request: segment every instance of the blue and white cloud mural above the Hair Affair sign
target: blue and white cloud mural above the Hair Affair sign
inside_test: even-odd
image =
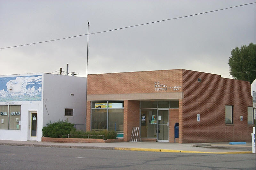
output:
[[[42,75],[0,78],[0,101],[42,100]]]

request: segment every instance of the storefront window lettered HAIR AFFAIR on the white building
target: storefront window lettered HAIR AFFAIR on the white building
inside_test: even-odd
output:
[[[0,121],[0,129],[20,130],[20,105],[0,106]]]

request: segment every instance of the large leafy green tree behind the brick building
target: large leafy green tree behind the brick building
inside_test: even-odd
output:
[[[255,79],[255,44],[243,45],[232,49],[228,59],[230,75],[236,80],[249,81]]]

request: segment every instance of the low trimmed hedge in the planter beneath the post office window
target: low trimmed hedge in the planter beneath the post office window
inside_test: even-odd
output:
[[[81,131],[81,130],[71,130],[70,135],[105,135],[105,140],[116,139],[117,133],[114,130],[101,130],[101,131]],[[67,137],[67,136],[63,136]],[[87,136],[69,136],[69,138],[88,138]],[[93,139],[103,139],[103,136],[89,136]]]

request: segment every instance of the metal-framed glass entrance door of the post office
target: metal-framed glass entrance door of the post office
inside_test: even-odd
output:
[[[169,110],[158,110],[158,141],[169,142]]]

